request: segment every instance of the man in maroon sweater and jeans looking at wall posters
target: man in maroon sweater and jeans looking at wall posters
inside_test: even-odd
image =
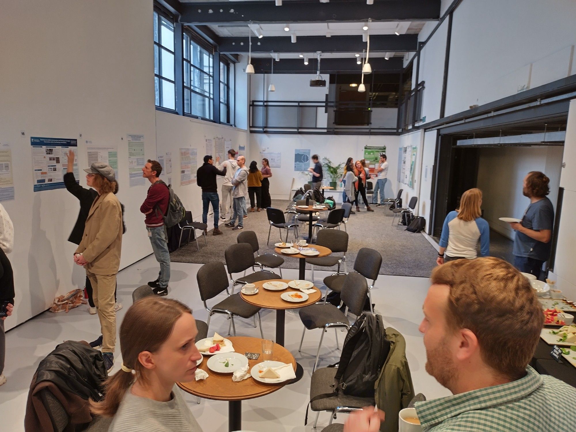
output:
[[[142,177],[150,180],[148,195],[140,206],[140,211],[146,215],[145,223],[148,237],[152,244],[154,256],[160,263],[160,272],[156,281],[148,282],[154,294],[168,294],[168,281],[170,280],[170,253],[168,252],[168,234],[164,226],[164,215],[168,210],[169,190],[164,181],[158,177],[162,172],[162,165],[150,159],[142,168]]]

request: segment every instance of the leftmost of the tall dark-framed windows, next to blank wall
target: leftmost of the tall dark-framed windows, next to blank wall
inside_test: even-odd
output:
[[[154,11],[154,90],[156,105],[176,108],[174,24]]]

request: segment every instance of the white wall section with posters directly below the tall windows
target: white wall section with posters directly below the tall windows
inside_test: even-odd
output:
[[[203,164],[206,154],[206,138],[222,137],[232,140],[232,148],[238,150],[239,145],[247,145],[247,132],[237,128],[222,126],[202,120],[190,119],[176,114],[156,112],[156,142],[157,153],[163,155],[172,153],[172,174],[162,173],[164,181],[170,179],[172,188],[182,200],[186,210],[192,211],[196,222],[202,221],[202,190],[196,183],[180,185],[180,149],[196,149],[197,164],[192,170],[196,172]],[[215,162],[215,155],[214,162]],[[228,158],[226,156],[226,158]],[[222,161],[221,161],[222,162]],[[217,176],[218,190],[223,177]],[[230,202],[230,201],[229,201]],[[212,207],[210,207],[211,211]],[[209,217],[208,226],[212,226]]]

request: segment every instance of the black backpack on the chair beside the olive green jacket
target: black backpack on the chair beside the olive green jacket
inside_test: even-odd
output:
[[[338,366],[334,384],[330,385],[334,392],[314,396],[310,402],[339,395],[374,397],[374,384],[389,352],[390,342],[386,339],[382,316],[362,313],[348,330],[340,361],[328,366]]]

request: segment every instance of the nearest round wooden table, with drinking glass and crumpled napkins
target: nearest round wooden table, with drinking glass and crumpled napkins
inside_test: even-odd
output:
[[[245,336],[232,336],[227,338],[232,342],[236,353],[262,353],[262,339],[247,338]],[[281,382],[279,384],[263,384],[253,378],[244,381],[232,381],[232,374],[219,374],[212,372],[207,362],[210,356],[204,355],[204,359],[199,369],[205,370],[208,374],[206,380],[177,382],[176,384],[185,392],[195,396],[204,397],[204,399],[227,400],[228,401],[228,430],[235,431],[242,429],[242,400],[253,399],[267,395],[281,389],[291,381]],[[291,363],[296,367],[294,356],[285,347],[275,343],[274,355],[272,360]],[[248,371],[252,366],[262,362],[262,359],[248,359]]]

